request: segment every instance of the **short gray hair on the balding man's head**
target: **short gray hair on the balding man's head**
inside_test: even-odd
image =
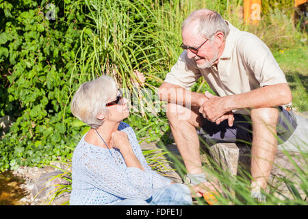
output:
[[[192,12],[182,23],[182,31],[185,27],[190,25],[193,21],[197,22],[197,31],[203,38],[209,38],[212,34],[217,31],[224,33],[224,39],[229,34],[229,26],[224,21],[222,16],[217,12],[209,9],[201,9]]]

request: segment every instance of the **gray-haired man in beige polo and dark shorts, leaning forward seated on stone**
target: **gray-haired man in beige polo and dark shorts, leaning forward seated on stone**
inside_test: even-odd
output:
[[[214,11],[192,12],[183,21],[182,39],[184,51],[158,93],[168,101],[167,116],[186,177],[196,196],[205,192],[200,183],[214,189],[202,170],[198,135],[252,142],[251,194],[264,201],[260,191],[266,189],[277,144],[297,125],[285,75],[264,42]],[[190,92],[202,76],[216,95]]]

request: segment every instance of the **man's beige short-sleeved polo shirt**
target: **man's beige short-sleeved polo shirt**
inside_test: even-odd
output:
[[[165,82],[190,89],[203,76],[218,96],[242,94],[263,86],[287,83],[266,44],[254,34],[240,31],[227,23],[230,32],[217,68],[198,68],[196,62],[188,58],[187,51],[183,51],[166,75]],[[248,114],[246,110],[233,112]]]

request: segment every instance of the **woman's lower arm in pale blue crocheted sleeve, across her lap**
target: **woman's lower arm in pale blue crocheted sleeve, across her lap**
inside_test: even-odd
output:
[[[109,153],[82,157],[82,177],[95,188],[121,198],[147,199],[153,194],[153,177],[140,168],[120,168]]]

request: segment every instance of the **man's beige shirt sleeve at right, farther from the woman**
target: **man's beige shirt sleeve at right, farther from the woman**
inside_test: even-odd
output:
[[[287,83],[285,74],[274,59],[270,49],[257,36],[247,33],[238,43],[242,60],[245,60],[253,71],[260,87]]]

